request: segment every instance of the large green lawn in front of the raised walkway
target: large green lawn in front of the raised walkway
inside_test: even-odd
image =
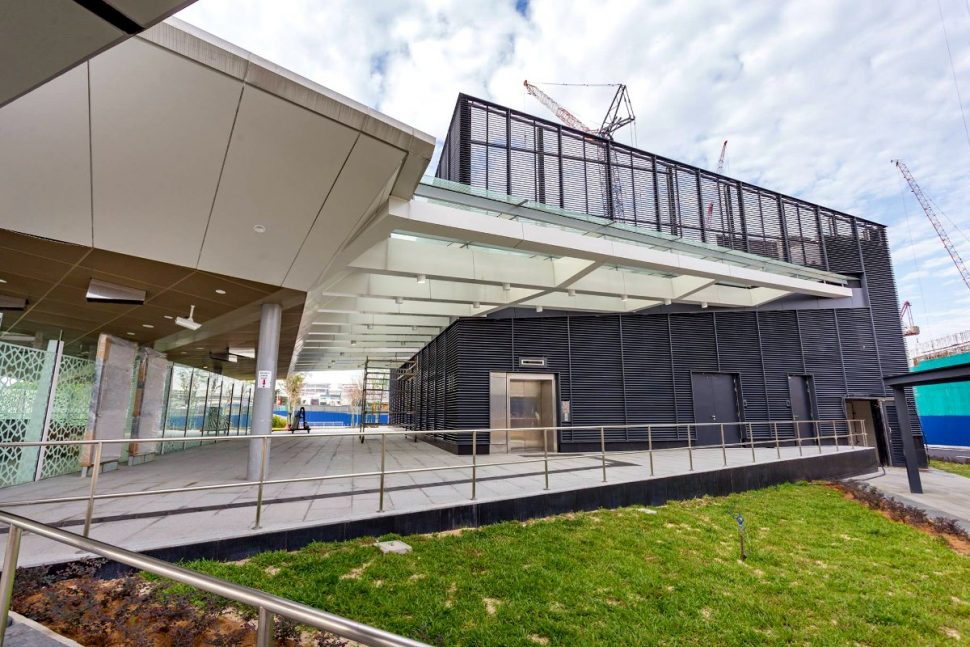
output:
[[[440,645],[970,639],[970,558],[822,485],[404,539],[189,566]]]

